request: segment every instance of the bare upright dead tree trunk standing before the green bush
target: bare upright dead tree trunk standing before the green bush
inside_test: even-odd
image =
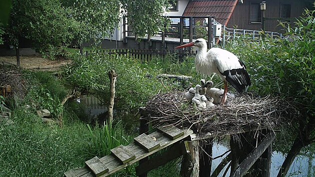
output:
[[[111,123],[113,116],[112,116],[112,111],[113,111],[113,105],[114,105],[114,98],[115,98],[115,83],[117,80],[117,74],[116,72],[111,69],[108,72],[109,80],[110,80],[110,97],[109,97],[109,104],[108,104],[108,117],[107,117],[107,123]]]

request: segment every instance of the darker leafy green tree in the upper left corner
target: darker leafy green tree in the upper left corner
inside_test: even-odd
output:
[[[18,46],[18,37],[34,41],[41,51],[66,46],[80,31],[80,23],[71,18],[73,10],[59,0],[13,0],[6,32],[10,44]]]

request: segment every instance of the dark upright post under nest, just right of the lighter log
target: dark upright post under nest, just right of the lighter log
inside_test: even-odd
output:
[[[199,176],[200,177],[208,177],[211,174],[211,165],[212,165],[212,145],[213,139],[203,139],[200,141],[200,159],[199,159]]]

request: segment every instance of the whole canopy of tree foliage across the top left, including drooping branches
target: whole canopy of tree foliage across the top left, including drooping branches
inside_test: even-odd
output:
[[[161,15],[167,0],[13,0],[9,26],[10,44],[19,36],[34,41],[42,51],[110,36],[127,12],[138,36],[153,35],[164,26]],[[1,35],[1,28],[0,28]],[[1,40],[0,40],[1,42]]]

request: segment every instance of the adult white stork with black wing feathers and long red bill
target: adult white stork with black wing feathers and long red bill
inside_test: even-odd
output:
[[[215,72],[224,81],[224,92],[221,99],[222,104],[224,104],[226,100],[227,82],[239,93],[247,90],[250,85],[250,78],[246,67],[233,53],[217,47],[212,47],[207,51],[206,41],[203,38],[198,38],[193,42],[179,45],[175,48],[188,46],[198,47],[194,61],[197,72],[205,76],[210,76]]]

